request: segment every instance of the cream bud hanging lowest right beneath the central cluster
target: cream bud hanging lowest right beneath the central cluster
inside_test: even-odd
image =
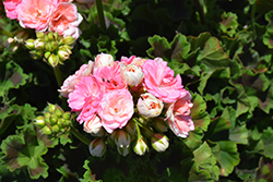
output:
[[[167,136],[161,133],[154,134],[151,137],[151,142],[152,142],[153,148],[158,153],[165,151],[169,146]]]

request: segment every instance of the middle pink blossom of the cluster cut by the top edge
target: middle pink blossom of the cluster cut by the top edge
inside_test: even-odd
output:
[[[58,0],[23,0],[17,7],[17,20],[24,28],[45,32]]]

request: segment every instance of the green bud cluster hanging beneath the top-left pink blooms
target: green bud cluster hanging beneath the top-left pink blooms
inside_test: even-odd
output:
[[[29,49],[33,59],[44,59],[52,68],[62,64],[72,53],[71,45],[74,38],[59,36],[58,33],[36,33],[36,39],[27,39],[25,47]]]

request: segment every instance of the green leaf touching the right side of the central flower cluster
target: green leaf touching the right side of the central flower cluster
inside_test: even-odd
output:
[[[191,108],[191,118],[194,123],[194,126],[206,131],[211,119],[207,112],[205,111],[206,104],[204,99],[200,95],[193,94],[191,101],[193,104],[193,107]]]

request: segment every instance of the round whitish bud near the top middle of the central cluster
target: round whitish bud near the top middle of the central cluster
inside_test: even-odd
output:
[[[144,73],[140,66],[129,64],[122,69],[122,76],[129,86],[138,86],[140,83],[142,83]]]

